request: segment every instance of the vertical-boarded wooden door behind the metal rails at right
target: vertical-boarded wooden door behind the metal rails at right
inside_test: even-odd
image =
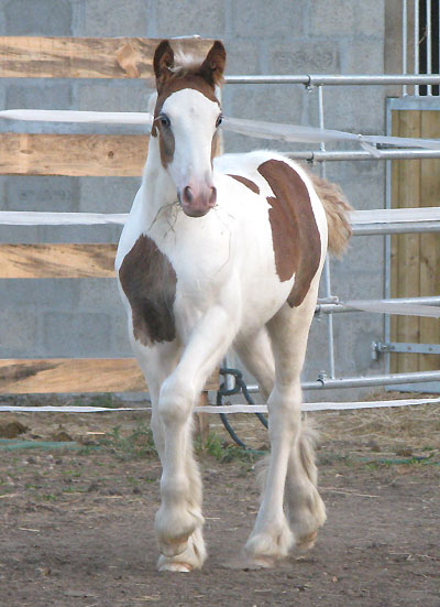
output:
[[[440,111],[394,110],[393,134],[439,138]],[[392,194],[394,208],[437,207],[440,193],[440,159],[394,161]],[[422,297],[440,293],[440,237],[438,232],[403,234],[392,237],[392,297]],[[392,316],[392,342],[440,344],[437,318]],[[431,371],[440,368],[440,356],[392,354],[392,372]]]

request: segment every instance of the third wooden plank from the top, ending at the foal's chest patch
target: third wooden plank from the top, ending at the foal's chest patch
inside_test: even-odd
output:
[[[113,278],[116,245],[0,245],[0,279]]]

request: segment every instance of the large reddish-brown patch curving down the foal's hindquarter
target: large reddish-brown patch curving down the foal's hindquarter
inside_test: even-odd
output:
[[[321,238],[310,196],[302,178],[286,162],[268,160],[258,166],[258,173],[275,195],[268,196],[267,202],[276,273],[282,282],[295,274],[287,303],[290,307],[298,306],[321,260]]]

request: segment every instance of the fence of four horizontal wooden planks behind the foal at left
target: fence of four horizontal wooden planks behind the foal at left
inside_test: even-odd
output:
[[[153,85],[158,41],[140,37],[0,36],[0,77],[144,78]],[[206,53],[212,41],[179,40]],[[148,138],[0,133],[1,175],[140,176]],[[0,245],[2,279],[113,277],[116,246]],[[212,378],[207,389],[215,389]],[[0,392],[131,392],[146,386],[134,359],[0,359]]]

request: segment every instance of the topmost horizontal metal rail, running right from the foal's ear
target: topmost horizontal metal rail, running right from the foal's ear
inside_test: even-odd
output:
[[[304,75],[274,75],[274,76],[226,76],[229,85],[305,85],[305,86],[348,86],[348,85],[440,85],[439,75],[420,74],[380,74],[380,75],[331,75],[331,74],[304,74]]]

